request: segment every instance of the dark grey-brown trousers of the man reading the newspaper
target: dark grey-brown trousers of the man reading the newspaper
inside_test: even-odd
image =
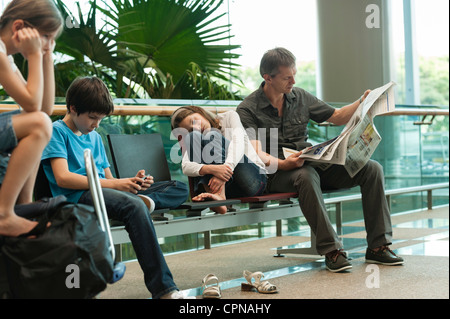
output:
[[[325,171],[305,162],[301,168],[278,171],[269,177],[270,192],[297,192],[300,208],[316,235],[317,252],[325,255],[342,248],[325,207],[322,189],[360,186],[367,244],[373,249],[391,244],[390,210],[384,193],[383,167],[370,160],[353,178],[343,165]]]

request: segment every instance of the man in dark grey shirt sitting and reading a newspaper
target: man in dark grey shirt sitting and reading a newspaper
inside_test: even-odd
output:
[[[264,54],[260,73],[264,82],[242,101],[237,112],[258,155],[271,173],[268,191],[298,193],[300,208],[316,235],[318,253],[325,255],[328,270],[338,272],[352,266],[328,218],[322,189],[360,186],[368,243],[366,261],[402,264],[403,259],[388,248],[392,241],[392,225],[381,165],[367,160],[352,177],[344,165],[333,164],[323,170],[319,167],[322,163],[300,157],[301,151],[311,146],[307,142],[310,119],[336,125],[353,121],[350,125],[356,125],[363,112],[358,116],[354,114],[370,91],[364,92],[356,102],[335,109],[305,90],[294,87],[295,57],[284,48],[275,48]],[[366,135],[370,132],[369,128]],[[336,140],[339,137],[328,142],[333,144]],[[346,140],[348,142],[349,138]],[[275,151],[273,145],[276,145]],[[297,152],[285,157],[283,148]]]

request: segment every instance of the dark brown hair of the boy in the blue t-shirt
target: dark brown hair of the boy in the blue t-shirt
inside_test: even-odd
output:
[[[66,107],[73,106],[78,115],[98,113],[109,115],[114,112],[114,103],[108,88],[95,76],[76,78],[66,93]]]

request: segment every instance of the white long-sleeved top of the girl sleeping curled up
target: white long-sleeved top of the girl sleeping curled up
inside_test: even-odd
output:
[[[247,132],[242,126],[241,120],[236,111],[221,113],[218,115],[218,119],[220,122],[222,135],[230,141],[224,164],[230,166],[230,168],[234,171],[243,156],[247,155],[247,157],[260,168],[260,172],[267,173],[266,166],[259,158],[253,148],[253,145],[250,143]],[[200,176],[200,169],[203,165],[205,164],[190,161],[188,152],[184,152],[181,168],[185,175],[191,177]]]

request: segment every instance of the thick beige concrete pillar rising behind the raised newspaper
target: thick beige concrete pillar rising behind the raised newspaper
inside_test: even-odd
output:
[[[389,0],[317,0],[318,96],[353,102],[391,80]]]

